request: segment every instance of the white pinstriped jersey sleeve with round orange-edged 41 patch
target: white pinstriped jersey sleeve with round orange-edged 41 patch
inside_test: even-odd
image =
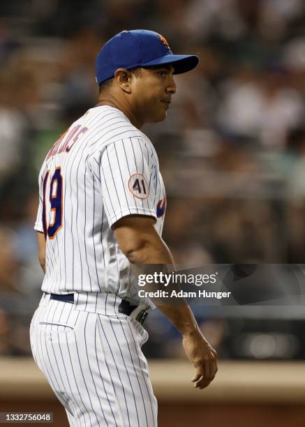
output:
[[[156,164],[142,140],[107,145],[101,156],[101,187],[110,227],[131,214],[156,219]]]

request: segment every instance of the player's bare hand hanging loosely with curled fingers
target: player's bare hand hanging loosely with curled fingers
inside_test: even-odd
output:
[[[200,331],[184,335],[182,340],[186,356],[195,366],[196,373],[192,382],[198,389],[204,389],[214,379],[217,368],[217,354]]]

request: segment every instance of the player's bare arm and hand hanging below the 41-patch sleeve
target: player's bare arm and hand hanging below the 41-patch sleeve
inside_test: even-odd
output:
[[[156,232],[152,218],[123,218],[114,227],[114,233],[136,274],[139,274],[139,268],[149,268],[149,264],[154,267],[166,264],[168,269],[174,270],[170,250]],[[141,274],[145,272],[140,271]],[[202,336],[191,308],[184,300],[177,301],[177,305],[165,304],[160,299],[151,300],[181,333],[184,351],[196,369],[192,380],[195,387],[207,387],[217,372],[216,352]]]

